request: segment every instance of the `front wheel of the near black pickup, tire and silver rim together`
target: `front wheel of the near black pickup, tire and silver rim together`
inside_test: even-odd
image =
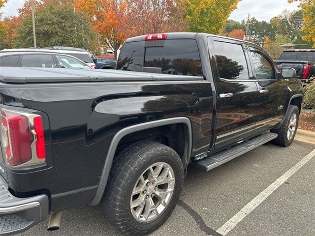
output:
[[[290,105],[284,118],[284,122],[282,123],[280,128],[276,130],[271,130],[271,132],[278,134],[278,137],[272,142],[283,147],[290,146],[294,140],[298,127],[298,122],[299,109],[295,105]]]

